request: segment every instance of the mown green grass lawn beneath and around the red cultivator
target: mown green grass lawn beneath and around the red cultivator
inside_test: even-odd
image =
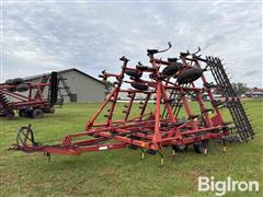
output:
[[[81,131],[99,104],[65,105],[43,119],[1,119],[1,196],[214,196],[214,193],[197,193],[201,175],[259,181],[260,193],[228,193],[228,196],[263,196],[262,100],[248,101],[245,106],[256,132],[254,140],[228,144],[227,153],[213,142],[206,157],[191,148],[171,159],[171,149],[167,148],[163,167],[159,157],[146,155],[141,161],[139,150],[53,155],[50,163],[42,153],[7,150],[15,141],[18,128],[27,124],[33,125],[36,141],[42,142],[60,141],[65,135]],[[121,112],[119,107],[115,115]]]

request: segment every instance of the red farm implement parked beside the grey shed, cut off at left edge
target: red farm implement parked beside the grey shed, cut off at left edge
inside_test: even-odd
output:
[[[49,81],[49,83],[48,83]],[[48,89],[48,95],[44,95]],[[53,114],[57,97],[57,73],[44,76],[39,83],[27,83],[21,78],[7,80],[0,84],[0,115],[14,117],[18,111],[22,117],[41,118],[44,113]]]

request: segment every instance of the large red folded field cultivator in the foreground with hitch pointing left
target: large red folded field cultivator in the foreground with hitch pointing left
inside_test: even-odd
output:
[[[132,148],[162,158],[163,147],[172,147],[174,153],[192,144],[195,152],[206,153],[210,139],[225,144],[232,139],[253,138],[252,127],[220,60],[214,57],[203,59],[197,56],[199,49],[167,60],[155,57],[170,48],[169,44],[164,50],[148,49],[149,66],[139,62],[130,67],[129,60],[122,57],[121,73],[103,71],[100,77],[104,80],[116,79],[115,88],[87,123],[84,131],[66,136],[60,144],[43,146],[34,141],[30,126],[22,127],[13,148],[25,152],[41,151],[47,155],[79,155],[87,151]],[[214,83],[207,82],[206,73],[211,73]],[[220,90],[224,101],[214,99],[214,89]],[[119,104],[124,94],[128,101]],[[142,97],[139,104],[136,103],[138,95]],[[208,95],[209,105],[204,102],[204,95]],[[194,97],[198,113],[192,109],[190,96]],[[122,118],[115,117],[116,107],[124,107]],[[220,107],[229,109],[231,123],[225,121]],[[104,115],[103,124],[98,123],[101,115]]]

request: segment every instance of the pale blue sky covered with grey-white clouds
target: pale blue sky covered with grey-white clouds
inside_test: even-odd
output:
[[[76,67],[118,71],[147,63],[146,49],[202,48],[224,58],[232,81],[262,86],[261,1],[3,1],[1,81]]]

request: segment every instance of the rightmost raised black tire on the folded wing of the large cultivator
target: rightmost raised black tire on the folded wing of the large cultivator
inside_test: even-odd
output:
[[[195,80],[199,79],[202,74],[203,74],[203,70],[199,68],[192,68],[188,70],[184,70],[178,76],[178,83],[179,84],[192,83]]]

